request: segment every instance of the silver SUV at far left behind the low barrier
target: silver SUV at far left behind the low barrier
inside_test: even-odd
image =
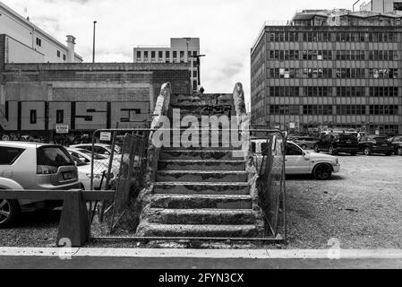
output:
[[[69,190],[80,188],[77,167],[63,146],[0,142],[0,189]],[[53,209],[59,201],[0,199],[0,228],[10,226],[18,213]]]

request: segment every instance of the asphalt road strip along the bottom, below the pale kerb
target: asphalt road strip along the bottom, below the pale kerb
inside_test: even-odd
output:
[[[0,257],[0,269],[402,269],[401,259]]]

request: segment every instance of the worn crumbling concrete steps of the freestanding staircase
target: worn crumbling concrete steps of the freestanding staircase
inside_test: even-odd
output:
[[[235,116],[232,95],[177,96],[182,117]],[[201,133],[200,133],[201,136]],[[234,148],[162,148],[149,204],[137,234],[143,237],[258,238],[259,208],[253,208],[249,174]]]

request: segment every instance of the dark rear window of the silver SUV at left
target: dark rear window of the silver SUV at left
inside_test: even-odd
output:
[[[42,146],[37,150],[37,164],[59,168],[75,165],[70,154],[57,146]]]

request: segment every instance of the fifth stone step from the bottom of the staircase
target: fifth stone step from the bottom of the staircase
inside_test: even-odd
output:
[[[236,170],[158,170],[157,181],[247,182],[248,174]]]

